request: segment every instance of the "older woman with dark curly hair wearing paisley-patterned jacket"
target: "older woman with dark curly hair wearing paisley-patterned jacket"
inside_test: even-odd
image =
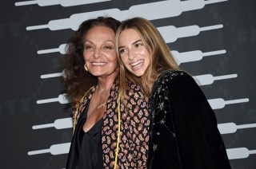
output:
[[[128,81],[126,102],[120,100],[114,50],[119,24],[90,19],[68,41],[64,83],[73,98],[74,136],[66,169],[146,167],[150,120],[144,96]]]

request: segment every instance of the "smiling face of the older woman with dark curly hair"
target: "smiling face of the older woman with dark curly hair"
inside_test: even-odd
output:
[[[95,77],[107,77],[117,71],[114,37],[114,31],[106,26],[95,26],[86,33],[83,57]]]

